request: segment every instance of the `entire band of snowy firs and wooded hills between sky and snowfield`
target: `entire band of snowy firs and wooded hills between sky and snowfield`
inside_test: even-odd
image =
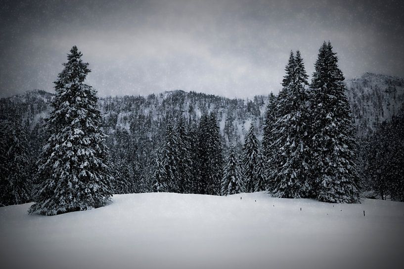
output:
[[[137,192],[404,201],[404,80],[344,81],[330,43],[312,81],[292,51],[280,93],[252,100],[181,90],[98,99],[81,57],[73,47],[56,94],[0,100],[1,205],[34,200],[32,212],[54,215]]]

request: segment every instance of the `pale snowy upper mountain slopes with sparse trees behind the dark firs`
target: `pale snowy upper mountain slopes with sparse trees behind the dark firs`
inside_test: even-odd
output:
[[[347,97],[350,101],[359,137],[371,134],[383,120],[397,115],[404,103],[404,80],[398,77],[365,73],[348,79]],[[1,109],[14,104],[33,128],[50,111],[53,94],[34,90],[1,99]],[[184,116],[189,122],[198,122],[203,113],[217,113],[224,143],[240,146],[250,122],[256,123],[261,139],[268,97],[252,100],[229,99],[181,90],[143,96],[103,97],[99,100],[103,125],[114,137],[117,129],[126,129],[140,139],[160,140],[167,121]],[[136,139],[137,139],[136,138]]]

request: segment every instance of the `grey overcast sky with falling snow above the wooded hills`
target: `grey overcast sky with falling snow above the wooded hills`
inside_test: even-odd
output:
[[[0,96],[53,91],[72,45],[99,95],[280,89],[290,50],[309,75],[330,40],[345,77],[404,77],[404,1],[1,1]]]

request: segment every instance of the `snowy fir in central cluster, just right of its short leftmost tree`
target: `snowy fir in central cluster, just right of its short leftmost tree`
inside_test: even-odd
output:
[[[165,184],[167,185],[167,192],[180,192],[178,168],[181,160],[177,138],[173,124],[169,122],[166,128],[166,138],[162,147],[161,159],[166,171]]]

